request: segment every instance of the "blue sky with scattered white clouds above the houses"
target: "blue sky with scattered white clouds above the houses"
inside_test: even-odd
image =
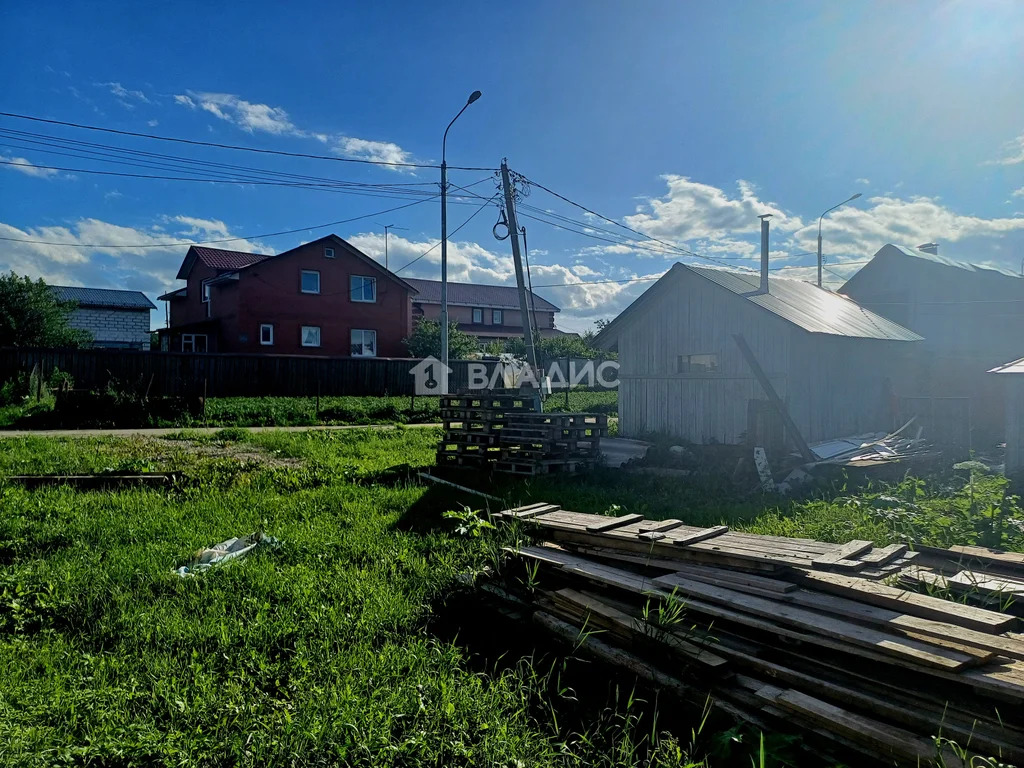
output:
[[[211,6],[216,6],[212,7]],[[24,2],[0,10],[0,111],[120,130],[349,159],[513,170],[632,228],[809,278],[818,215],[833,287],[887,242],[1016,270],[1024,259],[1024,3]],[[68,157],[52,137],[245,165],[261,172],[436,193],[434,169],[395,169],[168,144],[0,118],[0,269],[53,283],[176,287],[180,240],[280,252],[335,231],[396,268],[436,243],[436,200],[328,229],[407,197],[90,174],[181,171]],[[46,145],[32,143],[46,134]],[[49,152],[46,152],[49,151]],[[100,150],[110,152],[110,150]],[[122,161],[124,157],[120,158]],[[48,170],[59,166],[78,171]],[[487,172],[453,171],[474,194]],[[430,186],[434,184],[434,186]],[[395,188],[395,187],[392,187]],[[389,195],[391,193],[388,193]],[[425,195],[408,200],[424,200]],[[613,316],[693,257],[531,187],[522,213],[538,293],[559,326]],[[450,230],[482,200],[453,201]],[[547,212],[547,213],[545,213]],[[489,205],[452,238],[453,280],[511,283]],[[565,223],[564,220],[558,220]],[[599,227],[599,228],[598,228]],[[609,237],[601,229],[615,231]],[[608,243],[598,238],[608,238]],[[844,262],[849,262],[844,266]],[[707,262],[703,262],[707,263]],[[435,249],[407,268],[439,276]],[[154,313],[160,325],[163,311]]]

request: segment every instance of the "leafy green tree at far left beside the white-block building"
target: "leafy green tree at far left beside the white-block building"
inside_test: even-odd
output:
[[[80,347],[88,331],[71,327],[74,301],[61,301],[42,280],[0,274],[0,347]]]

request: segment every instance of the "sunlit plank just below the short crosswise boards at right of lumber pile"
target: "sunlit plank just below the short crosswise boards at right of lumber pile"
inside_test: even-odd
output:
[[[919,595],[898,587],[889,587],[842,573],[808,570],[800,573],[797,579],[798,583],[813,586],[823,592],[843,595],[922,618],[934,618],[959,627],[969,627],[980,632],[997,634],[1017,626],[1017,618],[1005,613],[954,603],[930,595]]]

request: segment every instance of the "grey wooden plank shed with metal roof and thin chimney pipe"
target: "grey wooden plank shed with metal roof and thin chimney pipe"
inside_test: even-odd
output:
[[[918,334],[809,283],[675,264],[596,338],[618,352],[620,432],[743,442],[766,395],[736,334],[808,441],[897,426]]]

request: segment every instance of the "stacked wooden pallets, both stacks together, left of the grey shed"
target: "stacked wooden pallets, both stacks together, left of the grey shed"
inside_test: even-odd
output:
[[[542,414],[534,392],[490,390],[441,397],[437,465],[535,475],[589,469],[600,460],[602,414]]]

